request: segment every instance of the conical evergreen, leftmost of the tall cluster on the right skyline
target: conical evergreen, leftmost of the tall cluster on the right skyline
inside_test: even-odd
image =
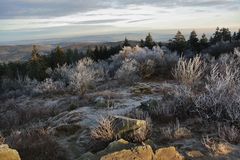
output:
[[[173,40],[174,49],[178,54],[183,54],[183,51],[186,49],[187,43],[183,34],[178,31]]]

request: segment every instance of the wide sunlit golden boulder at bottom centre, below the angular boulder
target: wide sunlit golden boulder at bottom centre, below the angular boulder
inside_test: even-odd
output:
[[[101,157],[100,160],[152,160],[154,153],[151,146],[138,146],[133,149],[124,149]]]

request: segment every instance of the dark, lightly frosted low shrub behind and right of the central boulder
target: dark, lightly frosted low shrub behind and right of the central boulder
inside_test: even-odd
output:
[[[161,100],[149,100],[142,103],[141,109],[153,117],[164,119],[178,117],[180,119],[192,116],[194,94],[187,86],[174,85],[171,93],[166,93]]]

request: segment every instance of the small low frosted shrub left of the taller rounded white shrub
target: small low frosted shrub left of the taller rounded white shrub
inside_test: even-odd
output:
[[[53,81],[50,78],[39,83],[34,91],[36,93],[59,93],[64,91],[65,84],[62,81]]]

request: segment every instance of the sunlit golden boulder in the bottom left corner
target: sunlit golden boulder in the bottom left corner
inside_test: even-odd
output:
[[[18,152],[6,144],[0,145],[0,160],[21,160]]]

